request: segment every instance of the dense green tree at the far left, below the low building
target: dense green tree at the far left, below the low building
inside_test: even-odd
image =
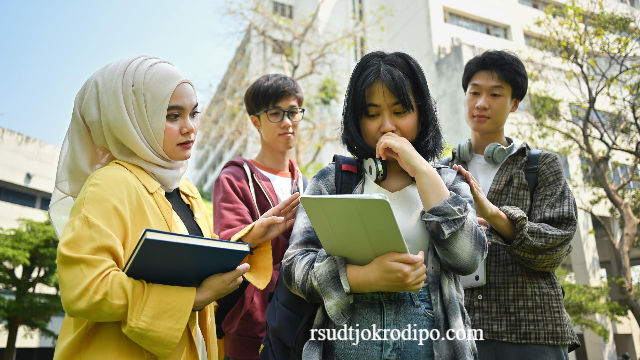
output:
[[[0,321],[9,332],[4,359],[13,360],[18,328],[57,338],[47,328],[51,316],[62,311],[56,252],[58,237],[49,220],[20,220],[16,229],[0,228]],[[51,293],[39,292],[41,288]],[[49,291],[47,291],[49,292]]]

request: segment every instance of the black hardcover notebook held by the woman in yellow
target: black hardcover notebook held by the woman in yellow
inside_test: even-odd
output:
[[[213,274],[234,270],[249,244],[146,229],[124,273],[148,283],[197,287]]]

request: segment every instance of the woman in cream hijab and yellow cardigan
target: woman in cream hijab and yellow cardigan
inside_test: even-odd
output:
[[[182,73],[150,57],[105,66],[76,96],[49,210],[66,311],[55,359],[216,359],[212,302],[242,276],[268,284],[268,240],[293,225],[297,194],[234,236],[253,249],[247,264],[198,288],[122,272],[146,228],[216,238],[198,191],[182,179],[197,108]]]

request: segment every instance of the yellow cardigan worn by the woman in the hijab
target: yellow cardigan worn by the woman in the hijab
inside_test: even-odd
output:
[[[179,190],[203,235],[217,238],[196,188],[182,179]],[[113,161],[95,171],[73,205],[58,246],[66,316],[54,359],[195,360],[196,322],[209,360],[218,357],[213,305],[192,311],[195,288],[148,284],[122,272],[146,228],[186,233],[160,184],[143,169]],[[251,265],[245,278],[264,289],[271,280],[270,242],[245,262]]]

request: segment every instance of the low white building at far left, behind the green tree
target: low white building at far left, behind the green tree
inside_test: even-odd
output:
[[[54,188],[60,147],[0,128],[0,227],[19,226],[18,219],[44,221]],[[47,291],[47,289],[37,289]],[[2,296],[10,297],[11,293]],[[62,314],[53,316],[48,327],[60,332]],[[0,331],[0,349],[8,333]],[[51,359],[54,342],[36,333],[18,330],[16,359]]]

